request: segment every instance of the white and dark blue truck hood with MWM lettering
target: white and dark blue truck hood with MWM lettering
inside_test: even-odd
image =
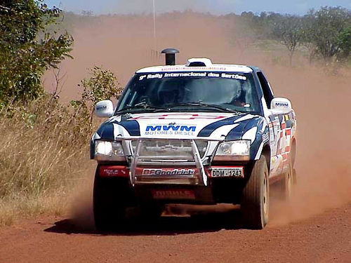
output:
[[[231,113],[147,113],[112,116],[102,123],[93,139],[114,140],[117,137],[160,137],[240,140],[251,130],[255,140],[256,131],[264,129],[263,116]],[[255,131],[252,129],[256,128]],[[251,140],[251,138],[247,138]]]

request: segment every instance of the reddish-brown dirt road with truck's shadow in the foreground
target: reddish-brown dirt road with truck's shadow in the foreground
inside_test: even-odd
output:
[[[121,233],[60,217],[23,221],[0,230],[0,262],[351,262],[351,203],[262,231],[242,229],[238,213],[161,217]]]

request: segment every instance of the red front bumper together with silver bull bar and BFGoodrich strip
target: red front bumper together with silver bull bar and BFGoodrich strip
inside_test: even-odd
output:
[[[239,203],[241,191],[250,173],[251,162],[213,163],[213,156],[218,144],[223,139],[199,138],[179,139],[191,145],[191,158],[184,159],[176,154],[167,158],[143,152],[144,142],[165,140],[164,138],[123,138],[120,139],[126,162],[100,162],[98,169],[100,177],[124,177],[138,201],[153,201],[158,203]],[[132,147],[132,141],[136,144]],[[207,141],[204,154],[199,153],[195,140]],[[177,139],[171,139],[177,141]],[[189,155],[189,154],[188,154]],[[171,156],[171,158],[170,158]],[[236,168],[239,174],[223,173],[223,177],[212,177],[216,168]],[[217,173],[217,176],[220,173]]]

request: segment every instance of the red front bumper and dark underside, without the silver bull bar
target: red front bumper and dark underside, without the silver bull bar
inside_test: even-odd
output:
[[[216,167],[239,167],[244,170],[244,177],[212,177],[211,169]],[[237,163],[236,166],[221,164],[220,166],[205,166],[207,185],[197,184],[196,177],[178,175],[177,177],[162,177],[145,175],[138,177],[135,184],[130,183],[127,166],[113,166],[111,164],[98,165],[99,176],[106,180],[117,177],[124,180],[133,193],[137,203],[187,203],[197,205],[212,205],[216,203],[240,203],[241,193],[251,173],[252,164]],[[147,168],[149,169],[149,168]],[[178,168],[178,170],[182,170]]]

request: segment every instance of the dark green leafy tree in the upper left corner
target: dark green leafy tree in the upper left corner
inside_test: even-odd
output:
[[[43,0],[0,1],[0,103],[34,100],[41,76],[69,57],[72,36],[48,32],[60,15]]]

